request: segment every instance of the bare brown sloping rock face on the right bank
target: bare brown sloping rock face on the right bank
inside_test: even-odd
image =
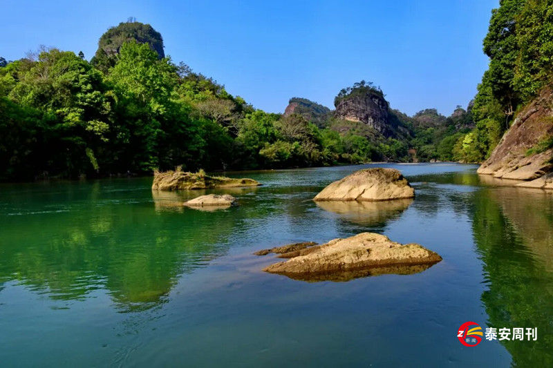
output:
[[[479,174],[535,180],[553,171],[553,93],[542,93],[518,113]]]

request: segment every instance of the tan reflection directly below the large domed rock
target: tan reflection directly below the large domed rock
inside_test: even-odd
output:
[[[319,201],[316,203],[321,209],[338,213],[351,222],[377,225],[399,217],[411,202],[413,202],[412,198],[378,202]]]

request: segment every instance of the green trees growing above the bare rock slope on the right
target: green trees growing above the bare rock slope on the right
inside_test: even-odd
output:
[[[523,106],[551,84],[553,1],[501,0],[484,39],[489,68],[474,101],[476,128],[458,139],[460,159],[491,155]]]

